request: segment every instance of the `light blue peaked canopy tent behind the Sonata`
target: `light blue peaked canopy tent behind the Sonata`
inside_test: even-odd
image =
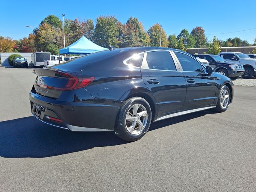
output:
[[[88,40],[85,36],[82,36],[70,46],[60,49],[60,54],[89,54],[104,50],[108,49],[98,46]]]

